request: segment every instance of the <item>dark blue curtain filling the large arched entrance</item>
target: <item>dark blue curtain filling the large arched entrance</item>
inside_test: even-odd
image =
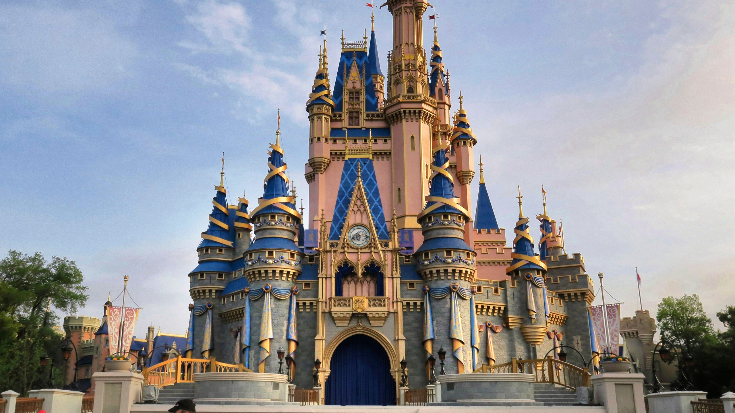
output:
[[[338,406],[395,405],[395,380],[390,359],[379,342],[356,334],[341,342],[329,364],[326,404]]]

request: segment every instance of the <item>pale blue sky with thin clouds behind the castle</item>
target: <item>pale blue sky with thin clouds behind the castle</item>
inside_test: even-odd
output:
[[[514,225],[517,185],[535,214],[544,184],[567,251],[606,273],[623,315],[637,309],[636,266],[654,312],[693,292],[713,316],[734,304],[733,3],[433,3],[501,226]],[[305,194],[319,31],[336,64],[341,30],[359,40],[369,12],[363,1],[2,2],[0,248],[76,260],[87,315],[127,274],[145,308],[139,334],[183,332],[221,153],[233,200],[258,198],[281,108]],[[385,9],[376,32],[385,56]]]

